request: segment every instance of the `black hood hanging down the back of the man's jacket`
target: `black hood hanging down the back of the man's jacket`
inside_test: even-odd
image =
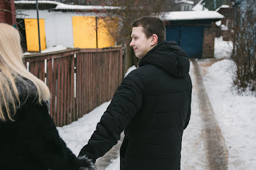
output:
[[[174,41],[159,42],[139,61],[139,66],[152,64],[175,77],[184,77],[189,72],[187,54]]]

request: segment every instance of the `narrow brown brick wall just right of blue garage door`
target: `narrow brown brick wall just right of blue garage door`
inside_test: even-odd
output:
[[[215,34],[214,26],[204,28],[203,58],[214,57]]]

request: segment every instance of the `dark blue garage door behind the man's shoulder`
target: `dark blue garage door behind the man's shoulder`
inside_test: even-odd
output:
[[[189,58],[201,58],[203,26],[166,26],[166,41],[175,41]]]

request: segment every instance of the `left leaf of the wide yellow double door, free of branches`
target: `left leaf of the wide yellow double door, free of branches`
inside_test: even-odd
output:
[[[95,17],[72,17],[74,48],[96,48]]]

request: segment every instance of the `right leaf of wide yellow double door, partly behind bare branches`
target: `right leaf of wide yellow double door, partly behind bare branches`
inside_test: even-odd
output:
[[[111,36],[111,32],[113,29],[117,29],[117,26],[117,22],[107,21],[107,18],[98,19],[98,48],[106,48],[115,45],[115,39]]]

